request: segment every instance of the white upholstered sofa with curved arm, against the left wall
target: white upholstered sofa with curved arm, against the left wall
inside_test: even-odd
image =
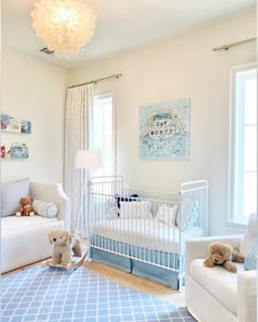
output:
[[[55,217],[3,215],[7,199],[16,199],[19,194],[26,193],[27,188],[24,190],[26,180],[31,196],[57,205],[58,211]],[[16,188],[11,189],[12,184],[21,187],[20,182],[23,184],[20,192],[15,190]],[[49,245],[48,232],[54,229],[63,229],[69,225],[70,200],[60,183],[30,182],[28,179],[0,183],[0,206],[1,273],[49,258],[52,246]]]

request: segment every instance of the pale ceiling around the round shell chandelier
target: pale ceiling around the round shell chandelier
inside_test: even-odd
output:
[[[87,0],[97,14],[95,35],[75,59],[39,52],[44,44],[32,27],[33,0],[2,0],[2,45],[62,67],[109,57],[172,37],[248,10],[256,0]]]

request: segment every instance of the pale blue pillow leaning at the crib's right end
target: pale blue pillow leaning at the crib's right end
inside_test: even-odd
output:
[[[183,202],[176,214],[176,226],[185,230],[188,226],[196,224],[199,216],[198,201],[187,199]]]

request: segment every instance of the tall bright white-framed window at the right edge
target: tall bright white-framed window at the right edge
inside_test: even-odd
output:
[[[257,67],[232,70],[228,219],[257,213]]]

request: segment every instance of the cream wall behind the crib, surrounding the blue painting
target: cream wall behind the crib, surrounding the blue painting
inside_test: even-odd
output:
[[[195,29],[176,38],[80,67],[69,83],[122,73],[101,82],[96,94],[114,93],[117,121],[117,172],[133,187],[174,190],[185,180],[210,184],[211,235],[226,232],[228,102],[231,67],[256,60],[256,44],[212,51],[256,35],[256,13]],[[139,106],[191,98],[190,157],[185,160],[139,157]]]

